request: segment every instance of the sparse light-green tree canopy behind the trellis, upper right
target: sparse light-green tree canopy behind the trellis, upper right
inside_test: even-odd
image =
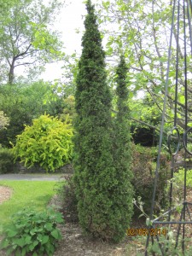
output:
[[[125,50],[125,59],[130,67],[127,81],[131,84],[130,96],[131,117],[137,121],[154,119],[157,125],[162,112],[162,102],[165,96],[165,81],[168,60],[168,46],[171,33],[172,6],[169,1],[101,1],[97,7],[103,37],[107,40],[108,73],[113,86],[114,63],[120,49]],[[181,8],[180,15],[183,15]],[[177,13],[175,14],[175,17]],[[179,65],[181,70],[178,79],[177,124],[184,125],[183,96],[183,21],[181,20],[179,34]],[[175,107],[175,65],[176,65],[176,32],[177,22],[174,21],[172,59],[169,73],[169,91],[167,96],[166,125],[172,126]],[[187,27],[189,36],[189,27]],[[189,40],[189,37],[188,37]],[[189,43],[189,42],[188,42]],[[188,53],[189,53],[188,44]],[[187,58],[189,67],[192,59]],[[191,83],[189,81],[189,119],[191,119]],[[137,98],[136,98],[137,97]],[[135,101],[136,99],[136,101]],[[148,102],[150,104],[148,105]],[[153,107],[152,107],[153,106]],[[147,119],[146,119],[147,117]],[[156,120],[155,120],[156,119]],[[150,123],[150,122],[149,122]],[[153,125],[153,122],[149,125]]]

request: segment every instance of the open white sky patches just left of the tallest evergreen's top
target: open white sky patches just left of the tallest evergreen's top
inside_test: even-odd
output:
[[[92,1],[94,3],[94,1]],[[84,15],[86,15],[83,0],[66,0],[67,6],[61,9],[61,15],[55,21],[54,30],[61,32],[65,52],[71,55],[76,51],[81,53],[81,38],[84,32]],[[77,29],[79,33],[77,33]],[[61,63],[46,65],[46,71],[41,75],[44,80],[54,80],[61,77]]]

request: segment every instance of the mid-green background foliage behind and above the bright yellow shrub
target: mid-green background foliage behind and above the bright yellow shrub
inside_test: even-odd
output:
[[[44,81],[0,86],[0,109],[9,117],[9,126],[0,131],[0,143],[10,147],[9,142],[15,143],[24,125],[32,125],[32,119],[45,112],[54,116],[62,113],[63,106],[61,97]]]

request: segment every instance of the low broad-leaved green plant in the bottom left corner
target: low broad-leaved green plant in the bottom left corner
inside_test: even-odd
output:
[[[60,212],[49,209],[47,212],[35,212],[24,209],[13,216],[12,223],[4,229],[4,238],[0,249],[6,249],[7,254],[15,256],[40,256],[47,253],[53,255],[61,232],[56,224],[63,223]]]

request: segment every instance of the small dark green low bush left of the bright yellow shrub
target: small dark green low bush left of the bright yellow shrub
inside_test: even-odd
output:
[[[0,173],[8,173],[15,171],[14,154],[9,148],[1,148],[0,146]]]

